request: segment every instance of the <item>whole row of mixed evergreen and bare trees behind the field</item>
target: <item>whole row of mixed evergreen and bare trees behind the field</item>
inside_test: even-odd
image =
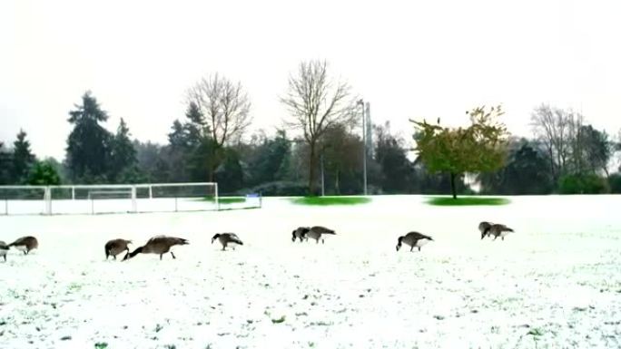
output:
[[[123,119],[108,131],[108,113],[85,92],[69,111],[64,160],[38,160],[20,131],[12,146],[0,142],[0,184],[217,181],[224,194],[315,195],[321,184],[328,195],[362,191],[358,98],[326,62],[303,62],[291,73],[280,98],[290,117],[273,135],[246,134],[251,100],[241,82],[212,74],[185,96],[184,115],[158,144],[133,140]],[[580,113],[538,106],[529,139],[511,137],[494,121],[501,114],[500,107],[468,111],[471,125],[457,129],[414,121],[407,138],[388,122],[375,125],[370,193],[456,195],[472,193],[473,182],[486,194],[621,192],[620,169],[610,169],[619,141]]]

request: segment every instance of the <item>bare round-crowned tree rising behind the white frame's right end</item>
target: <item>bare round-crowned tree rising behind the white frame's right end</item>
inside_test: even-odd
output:
[[[221,162],[222,148],[225,144],[238,141],[251,124],[249,114],[251,102],[243,90],[241,82],[232,82],[218,73],[203,77],[186,94],[189,104],[195,104],[201,115],[204,136],[212,140],[213,173]]]

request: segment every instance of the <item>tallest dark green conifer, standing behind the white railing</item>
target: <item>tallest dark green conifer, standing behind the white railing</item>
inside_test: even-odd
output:
[[[82,104],[76,104],[69,115],[69,122],[74,125],[66,148],[71,178],[74,181],[107,181],[113,135],[100,124],[108,120],[107,113],[91,92],[86,92]]]

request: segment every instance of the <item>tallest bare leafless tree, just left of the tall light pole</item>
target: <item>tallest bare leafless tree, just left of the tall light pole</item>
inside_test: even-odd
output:
[[[291,113],[287,123],[303,131],[309,145],[309,194],[315,194],[318,161],[318,143],[330,127],[353,122],[353,103],[350,85],[333,81],[328,76],[328,63],[310,61],[300,63],[297,73],[289,78],[289,89],[281,102]]]

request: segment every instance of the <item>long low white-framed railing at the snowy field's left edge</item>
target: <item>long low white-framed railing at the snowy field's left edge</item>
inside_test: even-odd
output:
[[[0,214],[5,215],[219,209],[214,182],[0,186]]]

